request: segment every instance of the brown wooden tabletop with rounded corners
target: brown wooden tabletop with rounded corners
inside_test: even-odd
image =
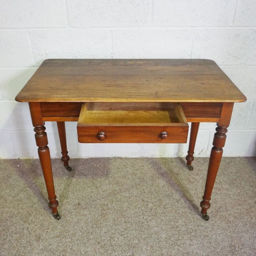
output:
[[[49,59],[16,96],[20,102],[243,102],[212,60]]]

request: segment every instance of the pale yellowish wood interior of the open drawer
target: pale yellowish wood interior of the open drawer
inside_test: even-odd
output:
[[[85,102],[78,120],[78,126],[175,124],[188,126],[179,103]]]

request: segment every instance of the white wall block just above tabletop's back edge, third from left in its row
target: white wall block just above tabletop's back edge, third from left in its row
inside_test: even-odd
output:
[[[178,47],[177,47],[178,46]],[[114,58],[189,59],[191,30],[187,29],[115,29]]]

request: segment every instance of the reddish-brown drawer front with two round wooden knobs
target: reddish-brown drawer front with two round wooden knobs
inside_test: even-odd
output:
[[[188,126],[78,126],[80,143],[187,143]]]

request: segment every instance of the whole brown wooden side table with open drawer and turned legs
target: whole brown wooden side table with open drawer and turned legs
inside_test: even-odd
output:
[[[192,122],[187,166],[200,122],[216,122],[202,207],[209,219],[211,193],[225,145],[234,102],[246,97],[212,60],[45,60],[16,96],[29,102],[49,207],[58,201],[45,121],[57,121],[68,171],[65,121],[78,121],[81,143],[186,143]]]

